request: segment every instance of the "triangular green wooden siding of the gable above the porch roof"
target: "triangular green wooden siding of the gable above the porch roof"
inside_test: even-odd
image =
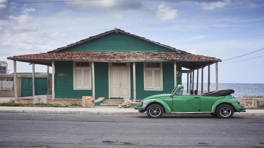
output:
[[[129,36],[124,33],[110,33],[102,37],[66,48],[59,52],[72,51],[145,51],[145,52],[176,52],[172,49]]]

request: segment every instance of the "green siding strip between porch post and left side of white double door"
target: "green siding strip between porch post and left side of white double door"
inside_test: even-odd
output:
[[[95,64],[95,98],[108,98],[108,63],[94,62]]]

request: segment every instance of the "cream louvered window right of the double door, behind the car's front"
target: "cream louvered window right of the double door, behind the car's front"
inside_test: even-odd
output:
[[[162,62],[144,63],[144,90],[163,90]]]

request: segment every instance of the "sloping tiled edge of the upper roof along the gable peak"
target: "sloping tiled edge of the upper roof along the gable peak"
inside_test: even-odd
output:
[[[104,36],[104,35],[109,34],[109,33],[112,33],[112,32],[121,32],[121,33],[124,33],[124,34],[128,34],[128,35],[130,35],[130,36],[133,36],[133,37],[136,37],[136,38],[140,38],[140,39],[142,39],[142,40],[145,40],[145,41],[148,41],[148,42],[151,42],[151,43],[154,43],[154,44],[157,44],[157,45],[160,45],[160,46],[163,46],[163,47],[169,48],[169,49],[171,49],[171,50],[175,50],[175,51],[177,51],[177,52],[190,54],[190,53],[188,53],[188,52],[186,52],[186,51],[178,50],[178,49],[176,49],[176,48],[174,48],[174,47],[171,47],[171,46],[168,46],[168,45],[164,45],[164,44],[161,44],[161,43],[158,43],[158,42],[154,42],[154,41],[151,41],[151,40],[146,39],[146,38],[144,38],[144,37],[140,37],[140,36],[137,36],[137,35],[135,35],[135,34],[130,34],[129,32],[125,32],[124,30],[117,29],[117,28],[115,28],[114,30],[106,31],[105,33],[100,33],[100,34],[98,34],[98,35],[91,36],[91,37],[89,37],[89,38],[86,38],[86,39],[80,40],[80,41],[78,41],[78,42],[76,42],[76,43],[72,43],[72,44],[69,44],[69,45],[67,45],[67,46],[57,48],[56,50],[48,51],[48,53],[58,52],[58,51],[60,51],[60,50],[66,49],[66,48],[68,48],[68,47],[72,47],[72,46],[74,46],[74,45],[78,45],[78,44],[81,44],[81,43],[83,43],[83,42],[87,42],[87,41],[89,41],[89,40],[95,39],[95,38],[97,38],[97,37]]]

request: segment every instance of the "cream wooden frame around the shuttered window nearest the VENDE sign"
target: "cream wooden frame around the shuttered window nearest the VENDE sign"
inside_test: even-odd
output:
[[[87,61],[73,61],[73,90],[92,90],[92,67],[89,62],[89,67],[76,67],[76,62]],[[76,70],[82,70],[82,87],[76,87]],[[84,86],[84,70],[89,70],[89,86]]]

